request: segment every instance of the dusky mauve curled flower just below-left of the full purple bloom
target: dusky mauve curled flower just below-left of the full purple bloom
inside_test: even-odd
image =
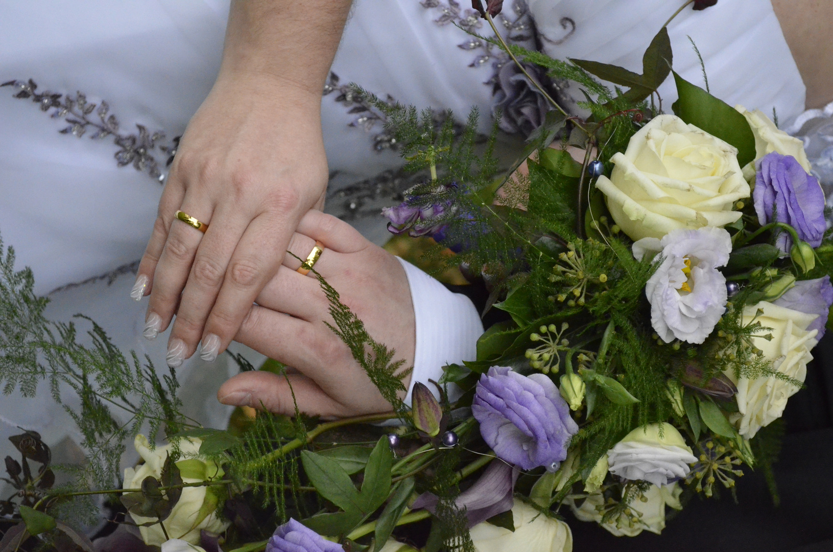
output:
[[[520,473],[519,469],[506,462],[492,460],[480,479],[455,499],[457,508],[466,508],[469,528],[512,509],[515,504],[512,493]],[[425,508],[433,514],[439,501],[436,494],[423,493],[411,509]]]

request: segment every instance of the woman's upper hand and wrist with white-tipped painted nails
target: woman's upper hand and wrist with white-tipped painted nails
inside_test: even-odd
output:
[[[298,221],[322,205],[321,93],[349,6],[232,2],[217,82],[182,136],[131,294],[150,294],[148,338],[177,315],[172,367],[201,341],[209,361],[226,349]]]

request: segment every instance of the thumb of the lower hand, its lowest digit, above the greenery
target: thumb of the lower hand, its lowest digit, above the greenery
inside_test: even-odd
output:
[[[294,399],[293,399],[294,395]],[[344,418],[347,407],[329,397],[318,385],[302,374],[279,376],[269,372],[237,374],[217,391],[222,404],[249,406],[275,414],[295,415],[298,410],[326,418]]]

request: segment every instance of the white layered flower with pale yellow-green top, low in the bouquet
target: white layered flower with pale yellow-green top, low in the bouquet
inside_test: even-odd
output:
[[[607,451],[611,474],[657,486],[686,477],[697,458],[676,428],[663,422],[636,428]]]

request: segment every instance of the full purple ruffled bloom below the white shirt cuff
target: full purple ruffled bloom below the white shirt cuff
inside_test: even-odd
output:
[[[497,457],[521,469],[558,469],[578,432],[570,407],[544,374],[522,376],[492,366],[477,383],[471,414]]]

